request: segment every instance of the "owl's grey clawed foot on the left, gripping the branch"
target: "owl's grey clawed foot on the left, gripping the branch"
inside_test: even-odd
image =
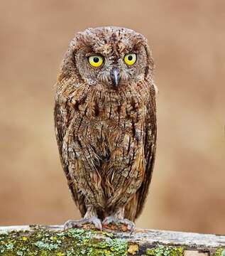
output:
[[[94,224],[95,228],[98,230],[102,229],[101,220],[96,216],[93,216],[91,218],[82,218],[81,220],[67,220],[64,224],[64,230],[69,228],[84,228],[84,225],[88,224]]]

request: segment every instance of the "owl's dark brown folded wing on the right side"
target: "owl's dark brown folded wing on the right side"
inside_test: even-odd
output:
[[[153,97],[153,95],[152,95]],[[146,115],[146,129],[144,131],[144,151],[145,151],[145,160],[146,160],[146,171],[143,177],[143,183],[141,187],[138,188],[136,193],[136,216],[141,214],[146,197],[148,195],[148,187],[153,174],[153,166],[155,161],[155,149],[156,149],[156,135],[157,135],[157,126],[156,126],[156,106],[155,106],[155,97],[153,97],[152,102],[148,105],[148,112]]]

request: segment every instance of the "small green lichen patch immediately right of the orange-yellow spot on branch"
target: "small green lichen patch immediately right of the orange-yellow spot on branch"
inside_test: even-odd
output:
[[[152,256],[182,256],[182,247],[158,245],[146,250],[146,255]]]

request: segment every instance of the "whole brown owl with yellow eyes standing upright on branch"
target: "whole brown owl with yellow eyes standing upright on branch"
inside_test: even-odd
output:
[[[87,28],[62,60],[55,96],[60,160],[82,215],[133,230],[153,174],[156,87],[146,38],[128,28]]]

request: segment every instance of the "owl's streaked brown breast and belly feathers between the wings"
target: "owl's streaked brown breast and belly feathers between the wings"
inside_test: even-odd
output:
[[[64,143],[70,179],[99,208],[124,205],[141,186],[146,100],[131,92],[102,97],[95,91],[70,106]]]

